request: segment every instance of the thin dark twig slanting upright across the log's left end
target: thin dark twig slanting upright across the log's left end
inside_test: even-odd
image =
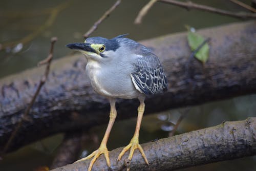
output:
[[[15,127],[15,130],[12,132],[8,142],[6,143],[6,145],[5,145],[4,149],[3,149],[3,152],[2,152],[3,154],[2,155],[4,155],[8,151],[8,148],[9,148],[10,144],[12,143],[13,139],[15,138],[15,136],[17,135],[18,130],[22,126],[23,121],[26,120],[26,118],[28,118],[29,111],[32,108],[32,105],[34,104],[35,99],[36,99],[37,95],[39,94],[42,86],[45,84],[45,82],[46,82],[46,80],[48,78],[48,75],[49,75],[49,72],[50,72],[50,65],[51,65],[51,61],[52,61],[52,58],[53,58],[53,48],[54,48],[54,44],[55,44],[56,41],[57,41],[57,37],[52,37],[51,38],[51,49],[50,49],[50,53],[49,53],[49,55],[47,57],[48,61],[47,61],[47,66],[46,66],[45,74],[40,79],[40,82],[39,82],[39,85],[38,85],[38,87],[36,89],[36,92],[33,95],[33,97],[31,99],[31,101],[30,101],[26,111],[24,112],[24,115],[22,116],[22,118],[20,118],[17,126]],[[39,62],[39,63],[42,63],[42,62]]]

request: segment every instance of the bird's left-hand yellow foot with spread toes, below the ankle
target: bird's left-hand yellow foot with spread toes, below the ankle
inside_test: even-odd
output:
[[[94,162],[96,161],[96,159],[97,159],[101,154],[104,154],[105,159],[106,159],[106,164],[108,164],[108,166],[110,167],[109,151],[108,151],[108,148],[106,148],[106,144],[101,144],[100,147],[99,147],[96,151],[94,151],[92,154],[90,154],[89,156],[84,157],[84,158],[82,158],[82,159],[80,159],[80,160],[77,160],[76,162],[83,161],[83,160],[87,160],[87,159],[90,159],[90,158],[93,157],[93,159],[92,159],[91,162],[90,162],[89,168],[88,168],[88,171],[91,171]],[[76,163],[76,162],[75,162],[75,163]]]

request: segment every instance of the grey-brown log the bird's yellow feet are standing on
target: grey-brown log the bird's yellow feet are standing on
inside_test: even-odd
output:
[[[231,160],[256,155],[256,118],[244,121],[223,122],[214,127],[192,131],[170,138],[142,144],[150,165],[143,160],[138,150],[131,161],[129,153],[117,162],[122,148],[110,152],[111,169],[105,163],[104,155],[95,162],[92,170],[175,170],[206,163]],[[84,170],[90,160],[73,163],[52,171]]]

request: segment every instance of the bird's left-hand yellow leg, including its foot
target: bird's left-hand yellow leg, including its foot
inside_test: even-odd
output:
[[[99,148],[96,151],[94,151],[92,154],[90,154],[89,156],[78,160],[78,161],[82,161],[82,160],[87,160],[87,159],[90,159],[90,158],[93,157],[93,159],[91,160],[90,166],[88,168],[88,171],[91,171],[94,162],[96,161],[96,159],[101,154],[104,154],[105,159],[106,159],[106,163],[110,167],[109,151],[108,151],[108,148],[106,148],[106,143],[108,142],[112,126],[113,126],[113,124],[115,122],[115,119],[116,119],[116,106],[115,106],[115,104],[116,104],[115,99],[110,99],[110,121],[109,121],[108,127],[106,128],[106,132],[105,132],[104,137],[103,137],[103,139],[100,143]],[[78,162],[78,161],[76,161],[76,162]]]

